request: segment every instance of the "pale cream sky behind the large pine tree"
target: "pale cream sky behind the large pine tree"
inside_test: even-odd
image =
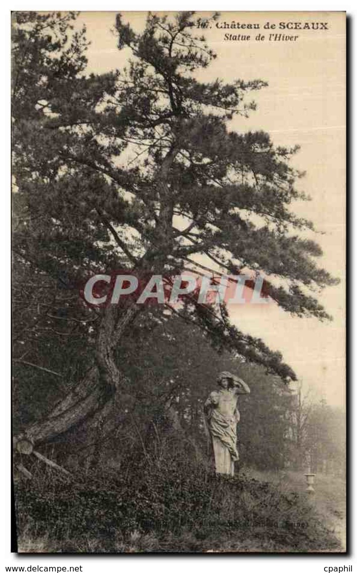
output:
[[[107,72],[125,64],[128,51],[119,52],[110,32],[115,12],[83,12],[88,39],[88,72]],[[209,15],[202,14],[202,17]],[[146,13],[123,13],[125,21],[140,30]],[[307,175],[299,189],[311,195],[311,202],[294,205],[296,214],[311,219],[320,233],[311,234],[324,251],[320,266],[341,283],[324,289],[319,301],[334,317],[329,323],[292,317],[273,305],[235,306],[232,321],[244,332],[261,337],[311,388],[315,399],[324,397],[331,405],[345,401],[345,211],[346,211],[346,18],[342,12],[222,13],[219,22],[260,23],[260,30],[205,30],[206,39],[217,52],[217,60],[200,79],[233,81],[262,79],[268,88],[255,92],[258,104],[249,119],[238,117],[229,129],[263,129],[277,145],[301,145],[293,166]],[[328,30],[264,30],[269,21],[327,22]],[[225,41],[224,34],[247,34],[250,41]],[[256,41],[256,34],[297,35],[296,41]]]

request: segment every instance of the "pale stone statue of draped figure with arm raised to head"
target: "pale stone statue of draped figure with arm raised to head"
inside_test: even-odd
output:
[[[205,402],[205,418],[213,442],[215,473],[233,476],[234,462],[239,458],[238,394],[250,394],[250,390],[248,384],[230,372],[221,372],[217,383],[219,389],[211,392]]]

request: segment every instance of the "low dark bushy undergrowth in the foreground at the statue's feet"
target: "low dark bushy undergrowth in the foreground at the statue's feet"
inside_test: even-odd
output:
[[[35,471],[16,500],[20,545],[46,538],[48,551],[339,550],[302,494],[218,478],[189,458],[142,456],[74,478]]]

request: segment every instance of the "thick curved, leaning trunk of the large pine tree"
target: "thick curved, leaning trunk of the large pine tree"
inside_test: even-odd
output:
[[[155,247],[154,261],[147,252],[146,257],[139,262],[137,270],[139,268],[141,270],[150,269],[153,272],[155,267],[156,272],[162,272],[167,249],[168,252],[171,252],[173,205],[170,200],[167,179],[177,153],[178,149],[172,147],[158,172],[161,205],[156,233],[160,252]],[[163,255],[160,254],[162,250]],[[37,442],[46,442],[56,438],[89,418],[91,418],[91,425],[96,426],[99,423],[104,423],[109,412],[111,414],[117,413],[121,399],[123,374],[116,366],[114,351],[141,308],[142,305],[139,307],[133,301],[125,307],[109,304],[105,308],[97,337],[95,366],[88,370],[77,387],[54,407],[44,421],[35,422],[23,434],[15,438],[17,451],[19,451],[18,444],[20,442],[23,445],[23,442],[27,440],[29,445],[33,447]],[[107,426],[108,423],[109,426],[115,425],[113,419],[116,418],[116,415],[111,416],[111,418],[111,421],[107,419]],[[108,427],[107,431],[109,431]]]

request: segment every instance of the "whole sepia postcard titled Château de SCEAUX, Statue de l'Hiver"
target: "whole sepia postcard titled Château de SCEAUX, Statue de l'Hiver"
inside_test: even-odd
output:
[[[346,552],[346,14],[11,23],[14,551]]]

